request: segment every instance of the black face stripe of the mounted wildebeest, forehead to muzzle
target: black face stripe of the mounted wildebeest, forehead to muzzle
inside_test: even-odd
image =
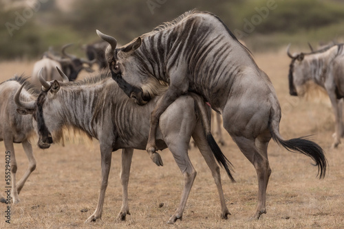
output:
[[[45,96],[47,95],[46,92],[41,93],[39,95],[37,102],[36,102],[36,121],[37,121],[37,129],[39,131],[39,147],[41,149],[47,149],[50,147],[50,144],[53,143],[52,141],[52,134],[50,134],[49,130],[47,130],[47,126],[45,125],[45,121],[43,118],[43,104]]]

